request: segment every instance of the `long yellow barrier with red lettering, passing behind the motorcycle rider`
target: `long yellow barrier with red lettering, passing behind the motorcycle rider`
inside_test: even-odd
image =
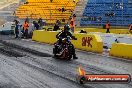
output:
[[[57,33],[58,32],[37,30],[33,32],[32,40],[54,44],[57,41]],[[95,34],[74,34],[74,36],[77,40],[71,40],[71,42],[75,48],[97,53],[103,52],[103,42],[100,36]]]

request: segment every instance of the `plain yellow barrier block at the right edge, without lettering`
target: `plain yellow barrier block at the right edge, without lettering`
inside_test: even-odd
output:
[[[110,56],[132,59],[132,44],[114,43],[110,50]]]

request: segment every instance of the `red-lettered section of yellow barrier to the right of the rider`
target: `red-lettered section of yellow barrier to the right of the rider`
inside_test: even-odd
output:
[[[100,36],[95,34],[74,34],[77,41],[72,40],[73,45],[81,50],[91,52],[103,52],[103,42]]]

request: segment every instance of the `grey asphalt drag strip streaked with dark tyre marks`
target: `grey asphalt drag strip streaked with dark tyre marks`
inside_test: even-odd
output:
[[[77,50],[78,60],[52,58],[52,45],[0,35],[0,88],[132,88],[130,84],[85,84],[77,68],[88,74],[130,74],[132,61]]]

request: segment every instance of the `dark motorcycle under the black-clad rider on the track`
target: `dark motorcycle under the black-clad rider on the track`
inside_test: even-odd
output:
[[[55,58],[71,60],[72,45],[70,40],[71,40],[70,37],[63,38],[61,45],[57,45],[57,43],[54,44],[53,54]],[[77,39],[73,39],[73,40],[77,40]],[[55,48],[56,46],[57,46],[57,50]]]

